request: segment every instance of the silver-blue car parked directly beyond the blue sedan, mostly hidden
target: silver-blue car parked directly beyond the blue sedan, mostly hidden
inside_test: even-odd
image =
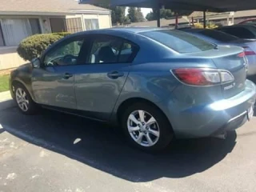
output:
[[[237,38],[233,35],[226,34],[218,30],[207,29],[181,29],[187,33],[194,34],[198,38],[202,38],[216,45],[241,46],[245,50],[248,59],[247,75],[256,74],[256,41],[252,39]]]

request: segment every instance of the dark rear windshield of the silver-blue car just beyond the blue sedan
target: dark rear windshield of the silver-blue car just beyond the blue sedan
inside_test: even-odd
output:
[[[232,42],[235,40],[238,40],[237,37],[234,37],[233,35],[223,33],[218,30],[202,30],[199,32],[199,34],[203,34],[206,37],[213,38],[219,42]]]

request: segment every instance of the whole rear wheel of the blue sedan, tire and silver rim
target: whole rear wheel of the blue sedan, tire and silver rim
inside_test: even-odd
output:
[[[145,118],[144,121],[140,121],[140,114]],[[152,122],[155,123],[150,124]],[[129,106],[122,114],[121,123],[128,142],[146,152],[164,150],[174,138],[174,132],[166,116],[157,107],[148,103],[138,102]]]

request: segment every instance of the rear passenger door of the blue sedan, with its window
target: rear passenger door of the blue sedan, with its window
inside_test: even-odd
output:
[[[74,77],[78,110],[107,120],[129,74],[137,46],[107,35],[90,37],[86,62]]]

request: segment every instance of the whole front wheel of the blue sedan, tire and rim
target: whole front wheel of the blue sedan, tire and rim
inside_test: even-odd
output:
[[[33,101],[26,87],[21,83],[14,85],[14,100],[17,103],[18,110],[22,114],[35,114],[38,110],[37,104]]]

